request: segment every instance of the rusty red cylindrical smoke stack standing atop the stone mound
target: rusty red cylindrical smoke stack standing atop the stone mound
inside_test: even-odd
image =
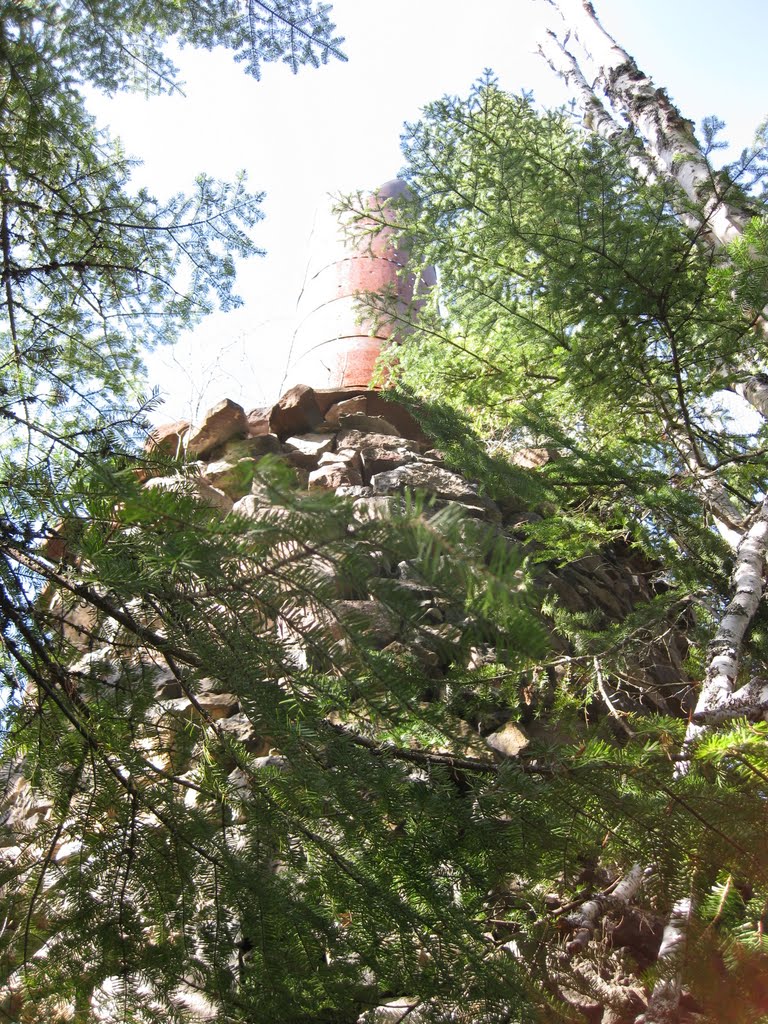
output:
[[[399,178],[387,181],[372,195],[371,208],[384,209],[386,216],[387,200],[403,195],[407,188]],[[400,274],[408,256],[394,247],[393,233],[393,228],[382,226],[373,236],[345,239],[330,201],[317,213],[284,387],[371,386],[382,347],[403,340],[408,329],[372,318],[360,322],[360,296],[394,294],[398,311],[406,314],[435,281],[431,268],[418,284],[413,275]]]

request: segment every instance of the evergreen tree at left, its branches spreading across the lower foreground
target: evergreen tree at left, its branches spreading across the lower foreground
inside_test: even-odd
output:
[[[171,37],[252,73],[337,53],[304,3],[3,9],[2,1013],[354,1019],[381,991],[451,993],[462,964],[487,988],[457,886],[486,891],[498,852],[454,776],[497,768],[424,697],[473,645],[541,645],[519,558],[418,504],[359,522],[276,467],[247,520],[201,504],[194,469],[142,486],[177,467],[137,447],[141,350],[237,301],[259,215],[242,181],[132,193],[85,113],[87,82],[173,88]],[[360,595],[424,634],[429,671],[338,607]]]

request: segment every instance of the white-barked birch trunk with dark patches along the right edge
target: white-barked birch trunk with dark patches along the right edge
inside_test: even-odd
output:
[[[644,162],[646,177],[665,174],[676,182],[681,196],[690,204],[690,209],[686,209],[683,203],[680,211],[686,226],[716,248],[741,238],[752,216],[742,194],[726,175],[713,171],[696,141],[693,124],[606,32],[591,0],[546,2],[560,14],[562,31],[550,32],[541,52],[550,67],[575,88],[585,112],[585,125],[611,138],[617,134],[616,126],[626,120],[642,139],[645,151],[644,158],[636,159],[634,166],[639,165],[643,173]],[[571,41],[581,47],[584,63],[568,48]],[[756,326],[764,333],[768,331],[768,310],[763,310]],[[768,418],[768,376],[756,372],[757,369],[748,359],[741,382],[729,389]],[[710,644],[706,679],[686,733],[685,745],[689,746],[705,729],[742,715],[745,709],[762,715],[768,703],[768,682],[763,679],[753,680],[734,693],[743,641],[763,594],[768,499],[744,532],[745,527],[732,514],[732,502],[720,481],[700,474],[696,460],[685,458],[689,455],[685,445],[681,455],[709,492],[703,496],[706,504],[720,520],[718,528],[736,552],[734,589]],[[683,761],[678,775],[686,771],[687,763]],[[584,912],[591,909],[587,904]],[[674,1024],[678,1020],[682,961],[692,912],[692,900],[685,898],[678,900],[670,913],[657,954],[660,976],[637,1024]],[[591,921],[584,923],[585,935],[591,935],[590,924]]]

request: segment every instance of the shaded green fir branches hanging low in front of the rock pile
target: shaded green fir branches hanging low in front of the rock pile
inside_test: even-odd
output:
[[[453,609],[449,624],[471,623],[434,638],[440,658],[463,664],[481,634],[521,664],[542,641],[521,636],[519,560],[419,503],[360,523],[339,501],[286,490],[269,467],[263,514],[223,520],[108,468],[79,496],[87,561],[76,574],[35,563],[98,602],[92,653],[72,664],[52,616],[38,610],[30,624],[3,607],[36,694],[9,716],[4,755],[52,802],[20,830],[29,853],[6,887],[5,970],[27,991],[22,1019],[78,999],[90,1019],[112,998],[136,1019],[167,1020],[195,979],[222,1019],[244,1021],[303,1020],[318,1002],[328,1019],[353,1020],[403,986],[447,995],[457,964],[477,979],[468,992],[500,986],[480,971],[482,894],[507,845],[496,805],[512,794],[483,811],[457,785],[453,758],[427,754],[415,768],[411,745],[387,746],[408,734],[458,750],[457,722],[425,702],[430,679],[416,660],[381,652],[339,593],[347,571],[365,571],[401,630],[429,643],[421,607],[386,572],[410,559]],[[159,674],[197,707],[191,717],[178,699],[158,705]],[[237,698],[245,744],[206,711],[212,680]],[[254,736],[280,756],[255,757]],[[474,761],[492,771],[493,794],[493,763]]]

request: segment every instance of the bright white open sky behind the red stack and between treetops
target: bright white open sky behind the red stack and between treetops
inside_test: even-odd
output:
[[[696,123],[715,114],[735,151],[768,117],[760,56],[766,0],[596,0],[606,28]],[[542,105],[567,99],[536,53],[543,0],[335,0],[346,63],[296,77],[266,66],[247,78],[231,55],[182,51],[184,95],[95,98],[131,156],[135,180],[162,198],[205,171],[245,168],[266,191],[255,242],[267,255],[243,263],[244,305],[215,313],[147,358],[165,402],[156,419],[195,418],[222,397],[246,409],[276,397],[286,370],[314,211],[328,193],[373,188],[400,165],[404,121],[444,93],[464,95],[490,68],[511,91]]]

